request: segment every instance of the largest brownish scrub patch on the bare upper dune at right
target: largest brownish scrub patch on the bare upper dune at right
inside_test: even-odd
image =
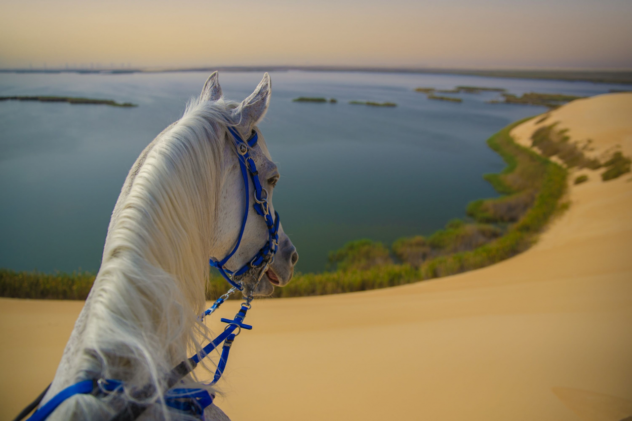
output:
[[[568,130],[557,130],[556,125],[557,123],[540,127],[533,132],[532,146],[537,147],[546,157],[559,157],[568,168],[598,169],[601,167],[598,159],[586,157],[575,143],[569,142],[570,138],[566,135]]]

